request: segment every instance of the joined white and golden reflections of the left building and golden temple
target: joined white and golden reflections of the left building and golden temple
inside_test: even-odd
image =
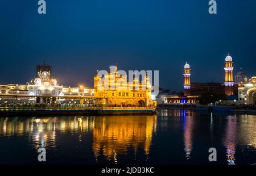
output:
[[[97,116],[52,118],[1,118],[0,137],[27,136],[33,148],[56,148],[56,132],[82,136],[92,133],[96,161],[103,156],[117,163],[118,155],[142,149],[148,157],[156,116]],[[59,135],[60,136],[60,135]]]

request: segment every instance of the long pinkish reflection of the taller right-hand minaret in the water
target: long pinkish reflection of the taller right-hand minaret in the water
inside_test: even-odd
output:
[[[224,145],[226,147],[226,157],[228,165],[235,165],[235,153],[237,145],[237,116],[228,116],[225,129]]]

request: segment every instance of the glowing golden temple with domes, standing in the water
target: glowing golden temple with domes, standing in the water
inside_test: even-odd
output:
[[[111,67],[110,67],[111,68]],[[106,80],[108,86],[104,89],[98,87],[102,80]],[[122,79],[123,82],[119,82]],[[132,88],[130,88],[132,87]],[[138,87],[136,89],[135,87]],[[133,78],[133,82],[127,82],[126,77],[118,73],[117,65],[113,71],[109,71],[104,78],[96,75],[94,77],[94,97],[101,98],[105,106],[154,106],[155,102],[151,99],[151,83],[146,75],[142,81]]]

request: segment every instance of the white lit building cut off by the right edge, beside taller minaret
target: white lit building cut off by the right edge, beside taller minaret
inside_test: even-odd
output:
[[[256,77],[244,81],[238,87],[238,100],[242,104],[256,104]]]

